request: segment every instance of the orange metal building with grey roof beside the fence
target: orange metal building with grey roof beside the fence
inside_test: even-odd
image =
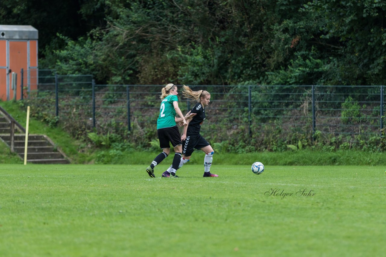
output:
[[[0,99],[14,99],[12,72],[17,73],[16,99],[21,97],[21,74],[28,92],[37,87],[38,31],[29,25],[0,25]],[[24,92],[25,93],[25,92]]]

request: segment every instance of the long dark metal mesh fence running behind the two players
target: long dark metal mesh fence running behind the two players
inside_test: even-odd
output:
[[[25,101],[47,115],[76,119],[86,124],[85,129],[155,133],[163,86],[95,85],[92,76],[59,76],[44,70],[36,74],[36,90],[26,90]],[[190,87],[211,94],[202,132],[215,141],[273,134],[312,138],[315,132],[370,136],[380,135],[383,128],[383,86]],[[195,104],[182,98],[181,87],[178,97],[183,113]]]

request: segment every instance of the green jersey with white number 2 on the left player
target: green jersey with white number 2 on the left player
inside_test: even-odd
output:
[[[177,96],[174,95],[166,96],[162,100],[157,119],[157,129],[176,126],[176,121],[174,121],[174,117],[176,117],[176,110],[174,110],[173,106],[174,101],[178,102]]]

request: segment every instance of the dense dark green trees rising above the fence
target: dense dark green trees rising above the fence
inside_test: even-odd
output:
[[[44,68],[128,84],[384,84],[386,3],[82,0],[0,3],[39,30]]]

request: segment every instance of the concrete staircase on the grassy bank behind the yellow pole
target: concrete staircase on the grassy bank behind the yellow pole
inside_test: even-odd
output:
[[[0,140],[7,144],[8,147],[11,147],[11,120],[13,120],[13,118],[0,107]],[[14,122],[14,151],[24,160],[25,129],[16,121]],[[70,162],[67,156],[55,146],[54,142],[52,142],[48,136],[29,134],[27,163],[68,164]]]

